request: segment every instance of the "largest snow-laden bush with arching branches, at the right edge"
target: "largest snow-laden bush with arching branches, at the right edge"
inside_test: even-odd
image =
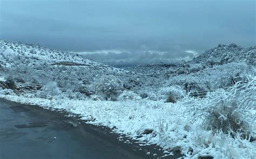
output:
[[[255,138],[255,99],[256,77],[248,77],[228,91],[211,92],[204,100],[193,100],[187,112],[193,114],[193,120],[203,119],[203,126],[214,133],[221,131],[232,137],[238,133],[244,138],[250,135]]]

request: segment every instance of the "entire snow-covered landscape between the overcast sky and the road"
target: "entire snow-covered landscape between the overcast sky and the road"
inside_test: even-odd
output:
[[[219,45],[192,61],[123,69],[39,46],[0,46],[3,98],[80,114],[166,155],[256,157],[255,46]]]

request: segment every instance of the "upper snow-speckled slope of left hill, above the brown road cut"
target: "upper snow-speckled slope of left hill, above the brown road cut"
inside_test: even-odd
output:
[[[9,66],[23,61],[29,66],[41,63],[53,64],[57,62],[74,62],[79,64],[100,65],[100,63],[86,59],[82,54],[62,52],[39,45],[21,44],[17,42],[0,41],[1,64]],[[18,62],[16,62],[18,60]]]

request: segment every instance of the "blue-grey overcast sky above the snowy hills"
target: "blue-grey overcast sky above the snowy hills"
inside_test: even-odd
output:
[[[100,62],[190,60],[218,44],[255,45],[255,1],[0,0],[0,38]]]

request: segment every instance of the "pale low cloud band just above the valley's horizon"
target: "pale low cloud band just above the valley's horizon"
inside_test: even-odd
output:
[[[127,67],[135,64],[172,63],[178,60],[191,60],[198,53],[194,50],[173,50],[172,52],[159,52],[156,50],[144,50],[129,52],[124,50],[99,50],[96,52],[82,52],[87,58],[111,64],[116,67]]]

